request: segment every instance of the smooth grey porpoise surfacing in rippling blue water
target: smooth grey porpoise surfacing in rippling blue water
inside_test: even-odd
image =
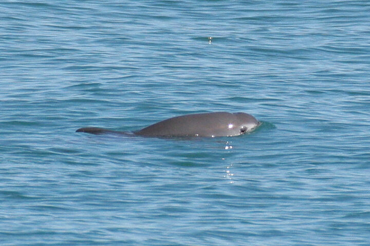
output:
[[[80,128],[76,132],[134,134],[149,137],[231,137],[251,132],[259,125],[260,122],[250,114],[214,112],[165,119],[133,133],[96,127]]]

